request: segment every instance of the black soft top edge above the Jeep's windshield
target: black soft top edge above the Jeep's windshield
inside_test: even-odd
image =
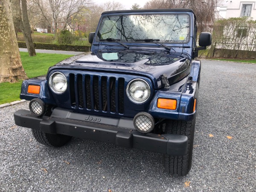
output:
[[[116,10],[103,12],[106,13],[141,13],[141,12],[193,12],[192,9],[131,9],[131,10]]]

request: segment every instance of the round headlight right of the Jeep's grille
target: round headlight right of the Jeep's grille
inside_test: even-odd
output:
[[[150,87],[143,79],[134,79],[126,88],[128,98],[134,103],[143,103],[150,96]]]

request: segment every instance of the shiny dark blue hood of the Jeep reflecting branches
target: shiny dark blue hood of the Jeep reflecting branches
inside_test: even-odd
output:
[[[154,88],[161,88],[161,75],[166,74],[169,84],[180,81],[190,73],[189,57],[180,52],[152,49],[98,50],[76,55],[53,66],[69,70],[93,70],[127,73],[149,77]]]

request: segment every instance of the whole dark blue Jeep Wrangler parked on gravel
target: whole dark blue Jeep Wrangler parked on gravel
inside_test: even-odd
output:
[[[192,9],[103,12],[90,33],[91,52],[50,67],[46,76],[23,81],[16,125],[35,139],[60,147],[71,137],[163,154],[173,175],[192,163],[201,62]]]

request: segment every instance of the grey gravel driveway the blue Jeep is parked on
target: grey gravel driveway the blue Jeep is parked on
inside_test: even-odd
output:
[[[3,108],[1,191],[255,192],[255,72],[255,64],[202,61],[196,146],[186,177],[166,174],[162,155],[153,152],[79,138],[62,148],[40,145],[13,121],[12,113],[28,104]]]

